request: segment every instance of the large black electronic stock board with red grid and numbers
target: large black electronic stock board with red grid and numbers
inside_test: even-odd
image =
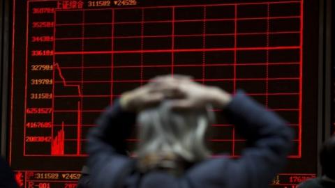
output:
[[[167,74],[242,88],[288,120],[295,147],[273,187],[315,177],[318,40],[306,38],[318,38],[318,19],[308,2],[15,0],[9,160],[20,186],[75,187],[99,114]],[[210,129],[213,157],[239,157],[233,125],[218,118]]]

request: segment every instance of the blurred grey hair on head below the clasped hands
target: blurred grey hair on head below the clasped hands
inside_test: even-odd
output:
[[[207,158],[210,152],[204,144],[204,134],[214,121],[214,112],[209,107],[176,111],[171,104],[162,102],[137,116],[140,125],[137,157],[166,153],[187,162]]]

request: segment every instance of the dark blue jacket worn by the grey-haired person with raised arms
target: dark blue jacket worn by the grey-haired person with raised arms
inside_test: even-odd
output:
[[[89,134],[92,185],[99,188],[268,187],[285,164],[292,144],[292,130],[275,113],[242,92],[233,97],[223,113],[247,139],[248,147],[239,159],[206,159],[191,166],[180,178],[163,171],[141,175],[135,169],[135,159],[126,156],[124,141],[135,125],[136,114],[122,111],[115,102]]]

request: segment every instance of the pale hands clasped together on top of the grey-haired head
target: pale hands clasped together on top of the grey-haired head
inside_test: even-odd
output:
[[[151,79],[148,84],[124,93],[121,102],[126,109],[140,111],[160,104],[163,100],[174,100],[176,109],[203,108],[207,104],[224,106],[230,95],[220,88],[204,86],[184,75],[164,75]]]

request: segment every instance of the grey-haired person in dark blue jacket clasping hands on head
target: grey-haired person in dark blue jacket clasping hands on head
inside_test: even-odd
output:
[[[241,157],[211,158],[204,133],[222,109],[246,138]],[[184,76],[162,76],[107,108],[88,136],[94,187],[268,187],[284,166],[292,130],[243,91],[233,96]],[[140,127],[135,157],[126,139]]]

